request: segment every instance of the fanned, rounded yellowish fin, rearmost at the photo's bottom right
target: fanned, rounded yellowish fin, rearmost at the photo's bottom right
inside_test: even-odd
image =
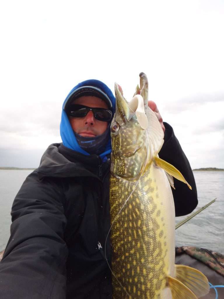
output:
[[[175,265],[176,279],[187,286],[198,298],[209,292],[207,277],[199,270],[184,265]]]

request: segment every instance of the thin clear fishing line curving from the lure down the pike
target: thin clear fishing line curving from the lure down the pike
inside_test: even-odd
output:
[[[130,108],[130,107],[129,107],[129,108]],[[130,110],[132,110],[132,109],[130,108]],[[132,110],[132,112],[134,112],[134,111]],[[135,112],[134,112],[134,114],[136,115]],[[112,271],[112,269],[111,269],[111,266],[110,266],[109,263],[108,263],[107,256],[106,256],[106,243],[107,243],[107,239],[108,239],[108,236],[109,236],[109,234],[110,234],[110,231],[111,231],[111,228],[112,228],[114,222],[116,221],[116,219],[118,218],[119,214],[120,214],[121,211],[123,210],[124,206],[125,206],[126,203],[128,202],[128,199],[131,197],[132,193],[133,193],[134,190],[136,189],[137,184],[139,183],[139,180],[141,179],[142,174],[144,173],[144,170],[145,170],[145,167],[146,167],[146,164],[147,164],[147,161],[148,161],[148,155],[149,155],[149,150],[148,150],[148,149],[149,149],[149,137],[148,137],[148,132],[147,132],[147,129],[144,129],[144,131],[146,132],[147,141],[148,141],[148,147],[147,147],[147,154],[146,154],[145,163],[144,163],[142,172],[140,173],[140,176],[139,176],[139,178],[138,178],[138,180],[137,180],[137,182],[136,182],[136,184],[135,184],[135,186],[134,186],[134,189],[131,191],[130,195],[129,195],[128,198],[125,200],[125,203],[122,205],[122,207],[121,207],[121,209],[119,210],[119,212],[117,213],[116,217],[113,219],[113,222],[112,222],[112,224],[111,224],[111,227],[110,227],[110,229],[109,229],[109,231],[108,231],[108,234],[107,234],[107,237],[106,237],[106,240],[105,240],[105,258],[106,258],[106,262],[107,262],[107,264],[108,264],[108,267],[109,267],[109,269],[111,270],[111,273],[113,274],[113,276],[116,278],[116,280],[117,280],[117,282],[119,283],[119,285],[122,287],[122,289],[125,291],[125,293],[126,293],[129,297],[130,297],[131,295],[129,295],[128,292],[125,290],[125,288],[122,286],[122,284],[120,283],[120,281],[118,280],[118,278],[116,277],[116,275],[113,273],[113,271]]]

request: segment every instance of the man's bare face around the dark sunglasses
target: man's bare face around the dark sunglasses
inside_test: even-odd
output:
[[[108,109],[107,104],[103,100],[93,96],[79,97],[74,100],[73,104]],[[101,135],[108,127],[108,122],[94,118],[91,110],[84,117],[69,116],[69,121],[73,131],[83,137],[95,137]]]

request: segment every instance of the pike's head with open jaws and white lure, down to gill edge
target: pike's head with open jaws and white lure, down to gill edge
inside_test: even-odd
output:
[[[146,128],[148,120],[141,95],[128,103],[122,88],[115,83],[116,112],[111,122],[111,173],[114,176],[136,178],[147,158]]]

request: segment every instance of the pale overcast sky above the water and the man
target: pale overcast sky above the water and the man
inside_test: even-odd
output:
[[[80,81],[130,100],[144,71],[191,167],[224,168],[223,14],[223,0],[1,1],[0,166],[38,167]]]

